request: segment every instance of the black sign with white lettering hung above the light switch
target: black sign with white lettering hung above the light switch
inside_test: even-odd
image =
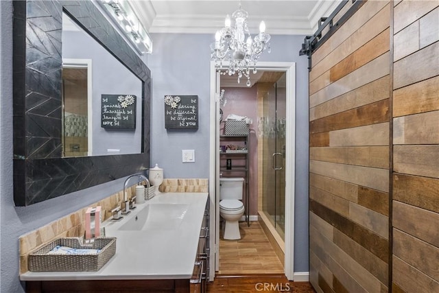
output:
[[[198,129],[198,95],[165,95],[165,128]]]

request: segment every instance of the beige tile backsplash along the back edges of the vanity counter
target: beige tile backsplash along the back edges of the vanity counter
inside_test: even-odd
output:
[[[160,185],[161,192],[208,192],[208,179],[164,179]],[[135,185],[128,188],[128,198],[135,194]],[[38,248],[61,237],[82,237],[85,232],[85,212],[88,207],[102,207],[102,221],[111,218],[111,210],[121,205],[123,191],[108,196],[99,202],[90,204],[70,213],[19,238],[20,274],[27,272],[27,257]]]

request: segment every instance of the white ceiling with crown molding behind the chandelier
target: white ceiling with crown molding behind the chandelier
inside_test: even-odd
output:
[[[129,0],[150,33],[215,34],[239,0]],[[241,0],[250,33],[265,21],[267,34],[310,35],[341,0]]]

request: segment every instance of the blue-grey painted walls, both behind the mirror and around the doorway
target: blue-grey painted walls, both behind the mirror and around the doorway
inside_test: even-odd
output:
[[[123,186],[123,178],[60,196],[30,207],[15,207],[12,183],[12,2],[0,1],[0,292],[23,292],[19,281],[19,237],[93,202]],[[211,35],[156,34],[154,54],[143,59],[152,70],[152,165],[168,178],[209,176],[209,44]],[[262,61],[297,62],[296,88],[296,272],[308,271],[308,73],[307,58],[298,56],[302,36],[273,36],[272,53]],[[166,132],[163,97],[198,95],[200,128]],[[181,163],[181,150],[194,149],[195,163]]]

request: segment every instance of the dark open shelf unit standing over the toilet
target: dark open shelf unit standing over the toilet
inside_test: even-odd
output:
[[[222,177],[244,178],[245,217],[250,226],[250,193],[249,193],[249,136],[220,135],[219,136],[219,172]],[[228,163],[230,160],[230,163]]]

